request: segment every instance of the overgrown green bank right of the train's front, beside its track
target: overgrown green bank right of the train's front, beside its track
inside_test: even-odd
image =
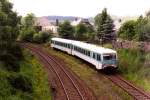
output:
[[[118,50],[119,71],[129,80],[150,92],[150,54],[139,50]]]

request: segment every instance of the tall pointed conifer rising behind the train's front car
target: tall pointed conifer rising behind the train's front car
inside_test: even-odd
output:
[[[113,40],[114,24],[111,17],[107,14],[106,8],[95,17],[95,26],[97,36],[102,43]]]

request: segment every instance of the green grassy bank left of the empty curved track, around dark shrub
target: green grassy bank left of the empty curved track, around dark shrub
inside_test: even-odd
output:
[[[51,100],[48,79],[43,66],[28,50],[24,50],[23,53],[25,59],[20,62],[19,72],[7,71],[0,63],[0,100]],[[22,91],[10,84],[10,77],[20,75],[26,77],[31,83],[32,92]]]

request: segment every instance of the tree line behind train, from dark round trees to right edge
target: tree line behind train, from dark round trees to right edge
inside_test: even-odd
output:
[[[140,16],[137,20],[128,20],[121,24],[119,30],[115,30],[111,16],[104,8],[95,16],[94,26],[82,21],[77,26],[72,26],[69,21],[65,21],[59,25],[58,33],[62,38],[91,42],[96,40],[101,44],[116,41],[117,38],[150,42],[150,11],[145,17]]]

